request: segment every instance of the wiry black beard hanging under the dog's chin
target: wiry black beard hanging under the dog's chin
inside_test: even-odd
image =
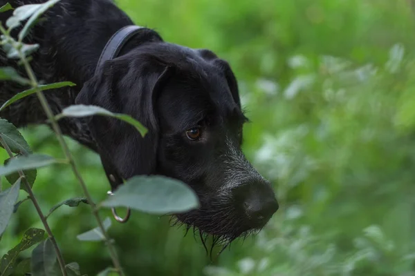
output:
[[[188,213],[177,214],[171,219],[172,226],[184,226],[185,235],[193,232],[194,237],[201,242],[212,259],[215,247],[221,247],[218,255],[230,247],[235,239],[245,240],[255,235],[261,229],[250,228],[240,219],[237,211],[230,202],[213,200],[202,201],[201,208]],[[208,248],[208,242],[210,248]]]

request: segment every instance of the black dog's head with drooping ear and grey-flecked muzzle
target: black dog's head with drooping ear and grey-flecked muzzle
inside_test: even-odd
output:
[[[232,241],[277,211],[269,181],[241,151],[248,119],[237,81],[209,50],[142,45],[104,63],[76,102],[129,114],[149,128],[142,138],[116,119],[89,121],[100,155],[122,178],[165,175],[194,189],[201,208],[176,215],[183,224]]]

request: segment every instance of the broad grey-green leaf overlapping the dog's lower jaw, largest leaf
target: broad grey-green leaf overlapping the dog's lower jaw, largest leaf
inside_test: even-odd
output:
[[[199,207],[196,193],[181,181],[160,175],[132,177],[114,195],[103,201],[105,207],[128,207],[146,213],[182,213]]]

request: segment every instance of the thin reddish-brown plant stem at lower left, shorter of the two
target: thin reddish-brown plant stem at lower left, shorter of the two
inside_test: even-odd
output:
[[[10,158],[11,159],[15,158],[15,156],[13,155],[12,150],[10,150],[8,144],[6,144],[6,142],[4,141],[4,139],[1,135],[0,135],[0,143],[3,145],[3,148],[6,149],[8,155],[10,156]],[[28,179],[26,179],[26,175],[24,175],[23,170],[19,170],[19,175],[20,175],[21,179],[23,180],[24,185],[26,186],[26,190],[29,194],[29,197],[32,200],[33,205],[35,206],[35,208],[37,210],[37,215],[39,215],[40,220],[42,221],[42,224],[44,225],[44,228],[46,230],[46,233],[48,233],[48,237],[50,239],[50,242],[52,242],[53,248],[55,248],[55,252],[56,252],[56,255],[57,255],[57,262],[59,263],[59,267],[62,271],[62,275],[67,276],[68,274],[66,273],[66,270],[65,270],[64,257],[62,257],[62,253],[59,250],[59,246],[57,246],[55,236],[53,235],[52,230],[50,230],[48,221],[46,221],[46,217],[42,213],[42,209],[39,206],[39,202],[37,202],[35,194],[33,194],[33,190],[32,190],[32,188],[30,188],[30,184],[28,182]]]

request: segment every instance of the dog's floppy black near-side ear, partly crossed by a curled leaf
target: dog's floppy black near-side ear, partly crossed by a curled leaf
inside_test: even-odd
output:
[[[156,168],[158,119],[156,100],[172,68],[155,57],[120,57],[106,61],[84,84],[75,103],[106,108],[138,120],[148,132],[118,119],[93,116],[88,120],[101,158],[110,161],[120,177],[150,175]]]

